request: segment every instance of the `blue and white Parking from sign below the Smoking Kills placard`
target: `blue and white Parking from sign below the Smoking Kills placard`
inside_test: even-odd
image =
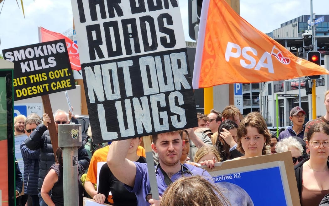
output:
[[[39,117],[42,117],[42,103],[14,103],[14,117],[20,114],[27,117],[32,113],[38,114]]]

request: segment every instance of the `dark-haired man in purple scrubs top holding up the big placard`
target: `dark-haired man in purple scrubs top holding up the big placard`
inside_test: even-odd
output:
[[[159,164],[155,167],[159,195],[161,196],[170,183],[183,176],[200,175],[213,183],[211,175],[204,169],[181,164],[180,158],[185,141],[182,140],[182,131],[174,131],[152,135],[152,149],[158,153]],[[115,141],[111,144],[107,164],[114,176],[123,182],[128,191],[135,192],[138,206],[160,205],[160,200],[146,196],[151,192],[150,180],[146,163],[132,162],[126,159],[130,140]]]

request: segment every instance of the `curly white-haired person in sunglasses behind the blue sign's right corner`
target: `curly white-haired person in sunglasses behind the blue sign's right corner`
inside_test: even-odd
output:
[[[275,151],[277,153],[291,151],[293,165],[296,165],[305,159],[303,156],[302,144],[299,143],[296,138],[299,137],[284,138],[275,145]]]

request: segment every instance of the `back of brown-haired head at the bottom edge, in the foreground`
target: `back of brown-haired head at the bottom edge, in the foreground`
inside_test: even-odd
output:
[[[219,189],[200,175],[183,177],[168,186],[160,206],[230,206]]]

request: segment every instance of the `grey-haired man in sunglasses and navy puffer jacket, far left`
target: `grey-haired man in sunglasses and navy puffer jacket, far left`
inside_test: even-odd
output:
[[[30,136],[39,124],[42,123],[41,118],[37,114],[30,114],[25,120],[25,134]],[[38,177],[39,177],[39,155],[40,150],[30,150],[26,147],[25,142],[20,145],[23,162],[24,162],[24,195],[21,204],[25,205],[28,195],[32,199],[32,205],[39,204],[38,197]]]

